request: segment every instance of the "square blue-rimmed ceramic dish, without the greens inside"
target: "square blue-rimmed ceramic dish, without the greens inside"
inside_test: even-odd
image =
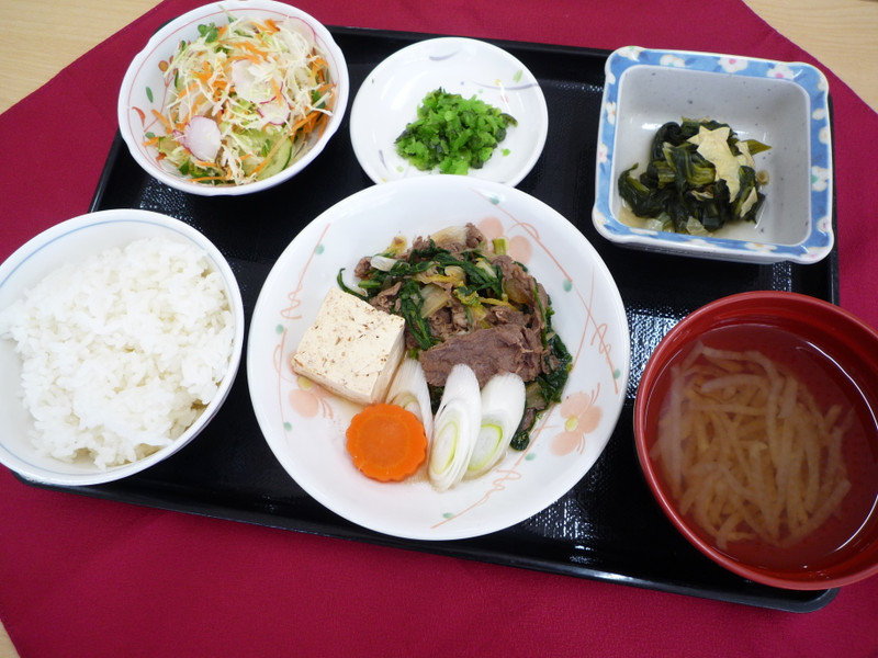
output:
[[[829,84],[820,70],[634,46],[614,52],[605,68],[593,211],[600,235],[626,247],[754,263],[815,263],[830,253],[832,132]],[[619,195],[619,175],[635,162],[634,174],[644,171],[655,132],[683,117],[727,123],[741,139],[772,147],[755,157],[757,171],[768,173],[755,224],[725,226],[710,237],[638,226]]]

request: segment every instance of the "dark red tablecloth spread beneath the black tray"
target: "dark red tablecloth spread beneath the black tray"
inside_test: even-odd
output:
[[[164,2],[0,115],[0,259],[88,211],[128,60],[161,23],[199,3]],[[738,0],[299,5],[331,25],[819,65]],[[870,164],[878,115],[826,72],[841,304],[878,326],[878,185]],[[878,656],[878,578],[842,589],[817,612],[784,613],[41,490],[0,467],[0,619],[23,658],[855,658]]]

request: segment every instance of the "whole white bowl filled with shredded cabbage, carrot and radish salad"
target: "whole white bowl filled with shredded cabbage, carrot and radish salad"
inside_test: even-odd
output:
[[[120,131],[159,181],[245,194],[289,180],[344,116],[344,55],[308,14],[270,0],[195,9],[159,30],[123,80]]]

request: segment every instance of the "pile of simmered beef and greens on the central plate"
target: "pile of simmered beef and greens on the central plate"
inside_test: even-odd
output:
[[[361,259],[356,288],[344,271],[337,280],[405,319],[406,351],[424,370],[434,407],[458,363],[475,372],[480,386],[503,372],[520,376],[526,406],[511,447],[524,450],[537,417],[561,400],[573,358],[552,327],[545,290],[506,247],[505,238],[488,239],[471,224],[452,226]]]

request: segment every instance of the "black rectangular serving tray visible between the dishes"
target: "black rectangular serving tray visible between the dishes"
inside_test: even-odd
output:
[[[351,99],[372,68],[425,34],[333,29],[351,77]],[[837,253],[812,265],[753,265],[667,257],[609,243],[592,226],[597,122],[606,52],[494,42],[539,79],[549,105],[542,157],[519,184],[573,222],[597,248],[621,291],[631,328],[626,405],[604,454],[573,490],[534,517],[486,536],[399,540],[364,530],[308,497],[281,468],[254,415],[241,364],[225,406],[187,447],[147,472],[86,487],[50,487],[91,497],[344,537],[500,565],[793,612],[828,604],[835,590],[765,587],[714,565],[674,529],[640,473],[632,408],[643,366],[680,318],[718,297],[784,290],[837,302]],[[188,195],[155,181],[116,136],[92,211],[132,207],[175,216],[206,234],[228,259],[252,313],[275,259],[335,202],[371,185],[347,121],[326,151],[288,183],[224,198]]]

